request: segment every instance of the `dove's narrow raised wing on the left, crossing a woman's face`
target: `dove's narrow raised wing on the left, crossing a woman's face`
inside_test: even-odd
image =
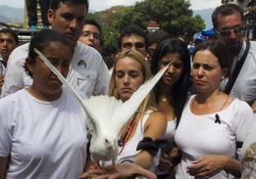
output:
[[[80,105],[82,107],[85,118],[87,120],[89,130],[92,130],[92,132],[93,132],[93,128],[95,128],[95,123],[93,122],[92,117],[87,117],[87,115],[86,115],[87,113],[92,113],[92,112],[88,112],[88,110],[84,107],[83,100],[77,94],[77,91],[73,88],[73,86],[70,85],[70,83],[67,81],[67,79],[65,79],[65,77],[63,77],[63,75],[56,69],[56,67],[54,67],[40,51],[38,51],[37,49],[34,48],[34,52],[39,56],[39,58],[44,62],[44,64],[47,67],[49,67],[55,75],[57,75],[57,77],[64,84],[64,86],[66,86],[70,90],[70,92],[75,95],[75,97],[77,98],[78,102],[80,103]]]

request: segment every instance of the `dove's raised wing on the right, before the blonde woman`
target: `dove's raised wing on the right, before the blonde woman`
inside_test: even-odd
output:
[[[126,101],[119,111],[115,111],[113,113],[113,117],[111,119],[111,126],[113,128],[113,132],[117,135],[121,132],[122,127],[128,122],[128,119],[132,116],[134,112],[138,109],[139,105],[142,103],[147,94],[152,90],[158,80],[162,77],[168,67],[172,64],[174,60],[172,60],[169,65],[160,69],[156,75],[151,77],[149,80],[145,81],[136,92],[134,92],[131,97]]]

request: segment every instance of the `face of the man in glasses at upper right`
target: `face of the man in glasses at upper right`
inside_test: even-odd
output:
[[[218,27],[216,35],[218,38],[226,42],[230,53],[235,57],[242,47],[243,41],[243,22],[238,12],[234,12],[229,16],[219,15]]]

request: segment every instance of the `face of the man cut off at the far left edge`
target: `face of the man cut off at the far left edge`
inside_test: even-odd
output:
[[[17,47],[16,41],[10,33],[0,33],[0,55],[4,61],[8,61],[10,54]]]

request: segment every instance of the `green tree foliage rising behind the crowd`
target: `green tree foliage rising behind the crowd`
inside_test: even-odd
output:
[[[193,17],[190,6],[187,0],[144,0],[134,6],[112,7],[89,14],[88,18],[94,18],[102,25],[105,44],[117,44],[120,32],[128,24],[146,29],[149,22],[157,22],[172,37],[181,35],[189,41],[195,32],[205,28],[200,16]]]

